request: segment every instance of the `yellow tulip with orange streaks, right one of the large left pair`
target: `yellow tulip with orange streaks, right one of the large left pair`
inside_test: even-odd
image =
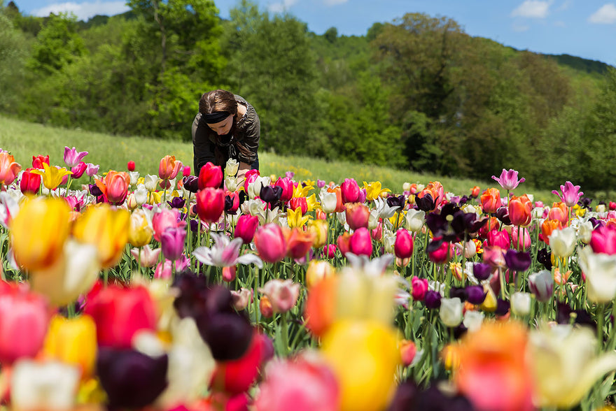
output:
[[[128,241],[130,212],[109,204],[88,208],[73,225],[73,235],[97,246],[102,268],[118,264]]]

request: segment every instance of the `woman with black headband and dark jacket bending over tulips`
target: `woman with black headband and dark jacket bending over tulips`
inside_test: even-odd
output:
[[[225,90],[203,94],[193,121],[195,175],[208,161],[224,168],[228,159],[239,161],[238,176],[258,169],[260,134],[259,116],[246,100]]]

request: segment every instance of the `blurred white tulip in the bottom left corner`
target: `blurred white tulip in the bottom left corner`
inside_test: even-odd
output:
[[[22,360],[10,375],[12,410],[72,410],[79,370],[59,361]]]

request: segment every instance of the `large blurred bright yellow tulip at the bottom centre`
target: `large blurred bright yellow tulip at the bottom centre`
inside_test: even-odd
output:
[[[384,410],[395,390],[402,362],[393,327],[342,320],[323,336],[321,350],[340,384],[340,410]]]

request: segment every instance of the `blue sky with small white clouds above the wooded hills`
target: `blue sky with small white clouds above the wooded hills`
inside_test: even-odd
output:
[[[13,0],[20,10],[44,16],[72,11],[87,20],[127,10],[123,0]],[[214,0],[228,17],[237,0]],[[8,0],[4,1],[5,4]],[[405,13],[456,20],[471,36],[491,38],[519,50],[569,54],[616,66],[616,0],[255,0],[262,10],[287,11],[317,34],[363,35],[374,22]]]

